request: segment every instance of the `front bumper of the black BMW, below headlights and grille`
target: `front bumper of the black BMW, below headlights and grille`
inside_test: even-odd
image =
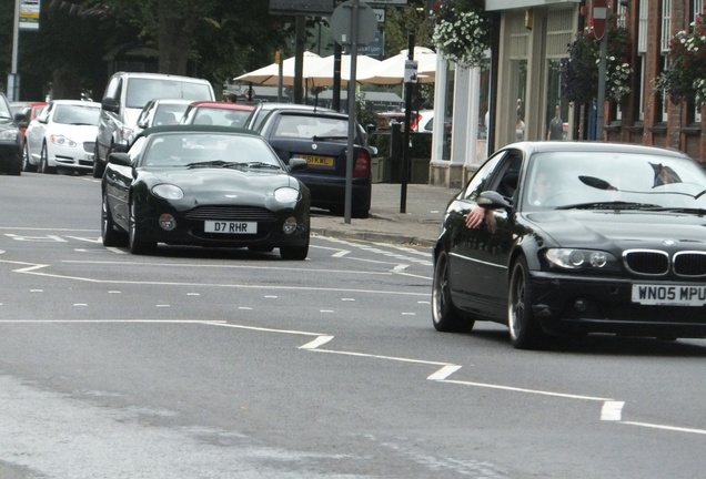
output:
[[[530,281],[532,310],[544,329],[559,334],[706,337],[706,306],[634,303],[633,283],[605,277],[535,274]],[[683,283],[665,284],[685,286]]]

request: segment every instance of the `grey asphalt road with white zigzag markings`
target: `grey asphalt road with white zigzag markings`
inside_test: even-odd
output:
[[[0,478],[686,478],[706,342],[435,333],[427,247],[99,242],[87,176],[0,176]]]

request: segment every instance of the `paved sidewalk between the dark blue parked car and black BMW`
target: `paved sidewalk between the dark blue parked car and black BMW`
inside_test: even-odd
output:
[[[321,236],[433,246],[448,201],[457,190],[425,184],[373,183],[370,216],[333,216],[312,208],[311,232]],[[404,212],[404,213],[402,213]]]

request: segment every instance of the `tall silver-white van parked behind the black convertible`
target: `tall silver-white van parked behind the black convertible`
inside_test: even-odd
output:
[[[153,99],[215,100],[208,80],[162,73],[118,72],[108,81],[98,121],[93,177],[101,177],[107,157],[124,152],[142,108]]]

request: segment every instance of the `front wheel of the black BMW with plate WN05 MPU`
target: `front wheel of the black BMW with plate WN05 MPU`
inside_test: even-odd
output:
[[[542,326],[532,315],[532,285],[527,259],[520,256],[512,268],[507,297],[510,342],[517,349],[532,349],[545,338]]]

